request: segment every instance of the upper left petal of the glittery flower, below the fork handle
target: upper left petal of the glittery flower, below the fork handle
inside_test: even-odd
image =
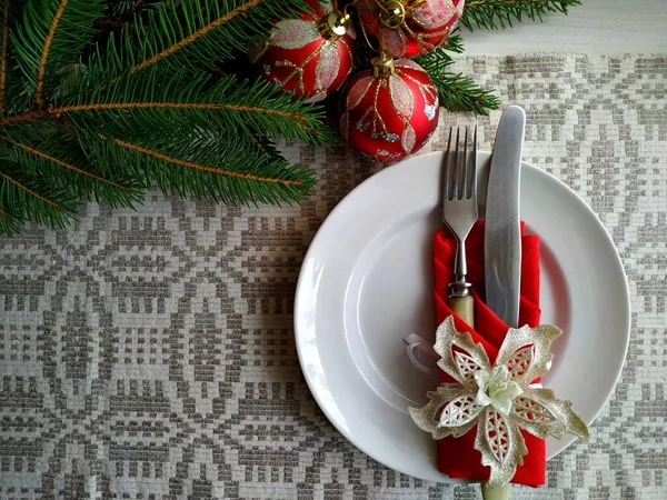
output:
[[[448,316],[438,327],[435,350],[441,357],[438,367],[474,391],[477,391],[475,373],[478,370],[489,371],[491,369],[484,348],[479,343],[475,343],[470,333],[458,332],[451,316]]]

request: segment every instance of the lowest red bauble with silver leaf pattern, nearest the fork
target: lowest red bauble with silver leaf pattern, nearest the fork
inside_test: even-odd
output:
[[[438,124],[438,90],[415,61],[386,57],[354,76],[340,102],[340,132],[376,161],[397,161],[428,142]]]

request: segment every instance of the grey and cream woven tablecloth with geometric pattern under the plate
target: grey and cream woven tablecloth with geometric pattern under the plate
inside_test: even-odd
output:
[[[630,284],[627,362],[591,442],[514,498],[667,498],[667,57],[457,64],[526,108],[525,159],[599,214]],[[481,149],[499,116],[479,119]],[[428,148],[469,121],[444,113]],[[0,239],[1,498],[479,498],[375,462],[310,396],[292,330],[299,266],[380,167],[344,146],[288,153],[319,172],[300,207],[152,192],[137,211],[91,204],[69,230]]]

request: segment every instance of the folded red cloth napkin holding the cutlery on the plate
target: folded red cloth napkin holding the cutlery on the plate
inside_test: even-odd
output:
[[[539,324],[539,238],[524,234],[521,222],[521,300],[519,306],[519,326]],[[448,283],[454,280],[454,258],[456,241],[444,229],[436,233],[434,241],[434,263],[436,272],[436,311],[438,324],[454,314],[458,331],[469,331],[472,339],[486,349],[491,363],[496,360],[500,344],[505,339],[508,326],[502,322],[484,303],[484,222],[478,222],[466,240],[468,258],[468,281],[472,283],[475,296],[475,324],[472,330],[448,306]],[[455,382],[445,372],[440,372],[442,382]],[[439,441],[440,472],[451,478],[487,480],[489,468],[481,464],[481,453],[474,448],[477,428],[472,428],[460,438],[445,438]],[[517,468],[511,482],[539,486],[545,483],[546,450],[544,439],[536,438],[521,430],[528,454],[524,464]]]

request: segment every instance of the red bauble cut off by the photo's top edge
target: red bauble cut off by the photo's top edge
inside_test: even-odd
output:
[[[414,58],[445,43],[464,4],[465,0],[361,0],[359,17],[382,50]]]

